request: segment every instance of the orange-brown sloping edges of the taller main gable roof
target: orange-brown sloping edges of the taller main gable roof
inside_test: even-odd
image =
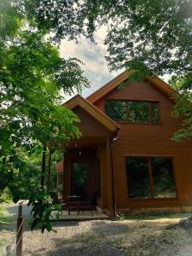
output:
[[[96,90],[94,93],[92,93],[90,96],[88,96],[86,99],[87,101],[94,104],[99,99],[101,99],[103,96],[107,95],[111,90],[118,87],[120,83],[123,83],[125,79],[128,79],[129,75],[131,74],[131,71],[125,71],[123,73],[120,73],[119,76],[112,79],[107,84],[103,85],[102,88],[99,90]],[[162,79],[160,79],[157,76],[154,76],[153,79],[150,77],[145,78],[146,81],[150,82],[150,84],[154,85],[155,88],[160,90],[162,93],[164,93],[166,96],[172,96],[172,94],[176,94],[177,91],[172,89],[172,87],[169,84],[166,84]]]

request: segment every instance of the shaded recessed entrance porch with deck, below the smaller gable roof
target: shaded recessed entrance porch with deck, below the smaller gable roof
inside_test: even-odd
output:
[[[109,139],[82,137],[68,144],[55,166],[63,219],[97,219],[113,215],[113,183]]]

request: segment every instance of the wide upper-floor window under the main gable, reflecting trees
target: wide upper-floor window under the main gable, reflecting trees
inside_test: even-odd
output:
[[[105,113],[117,122],[160,123],[158,102],[106,101]]]

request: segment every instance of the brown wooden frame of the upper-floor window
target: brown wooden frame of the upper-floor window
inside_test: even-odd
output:
[[[160,112],[160,102],[159,101],[154,101],[154,100],[124,100],[124,99],[106,99],[104,102],[104,110],[105,108],[105,104],[106,102],[125,102],[125,116],[126,116],[126,121],[123,120],[119,120],[119,121],[114,121],[118,124],[133,124],[133,125],[162,125],[162,118],[161,118],[161,112]],[[129,102],[147,102],[148,103],[148,117],[149,117],[149,122],[131,122],[129,120]],[[156,103],[157,104],[157,108],[159,110],[159,122],[158,123],[154,123],[153,122],[153,115],[152,115],[152,104]],[[106,113],[106,111],[104,112],[106,115],[108,115]],[[109,117],[109,116],[108,116]],[[109,117],[110,118],[110,117]]]

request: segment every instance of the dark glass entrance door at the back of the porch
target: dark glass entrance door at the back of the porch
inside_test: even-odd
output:
[[[72,195],[86,198],[87,192],[87,163],[73,163],[72,166]]]

